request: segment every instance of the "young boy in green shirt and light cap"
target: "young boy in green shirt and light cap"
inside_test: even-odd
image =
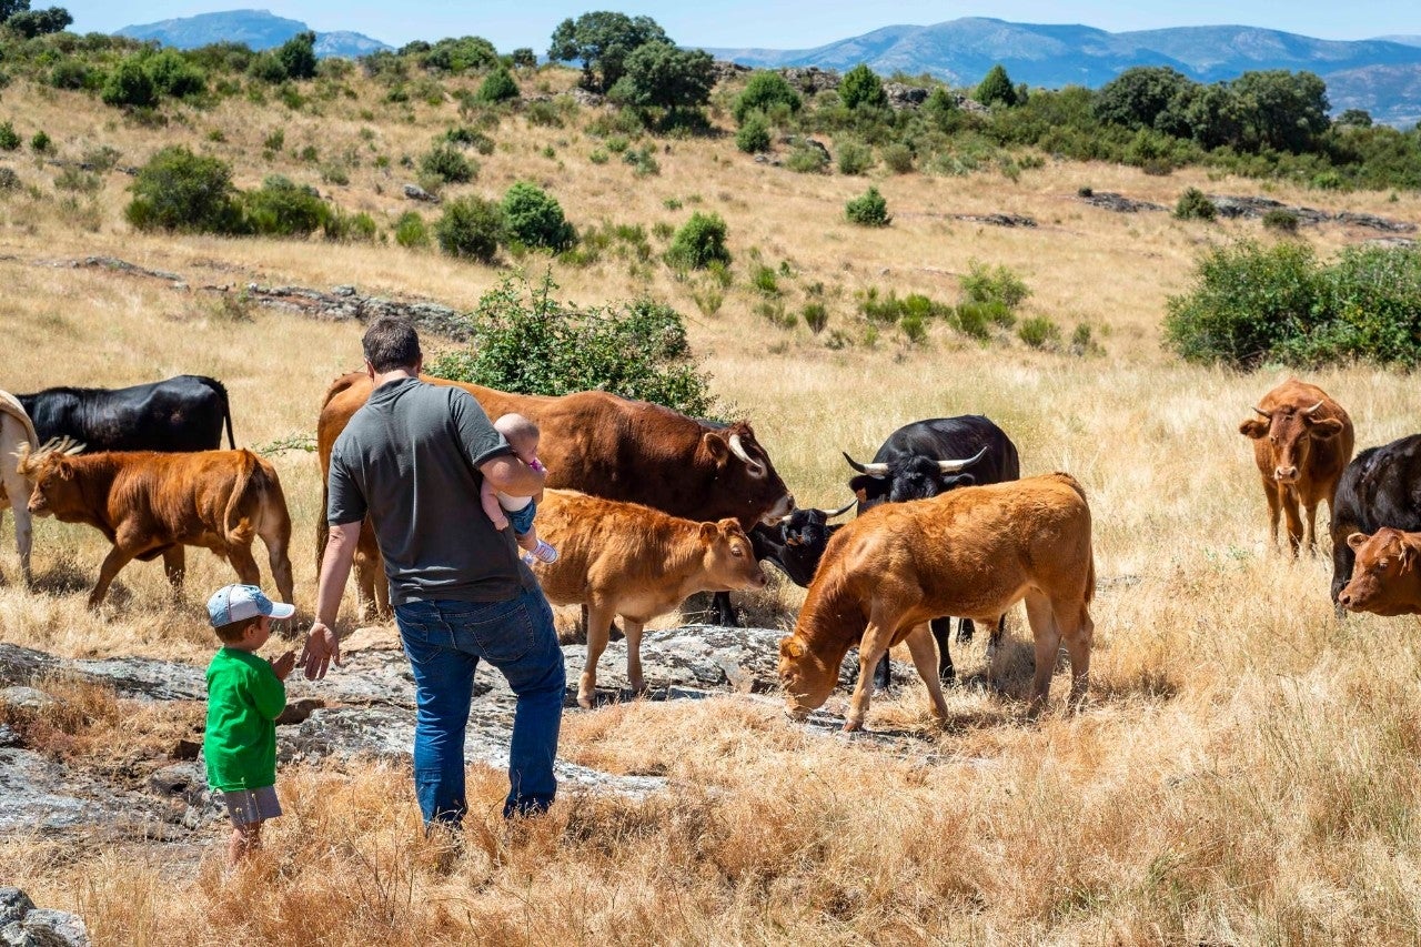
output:
[[[269,663],[256,656],[271,637],[271,619],[296,607],[271,601],[256,586],[223,586],[207,600],[207,619],[223,647],[207,665],[207,731],[202,752],[207,785],[232,818],[227,865],[261,846],[261,823],[281,815],[276,798],[276,718],[286,710],[286,675],[296,651]]]

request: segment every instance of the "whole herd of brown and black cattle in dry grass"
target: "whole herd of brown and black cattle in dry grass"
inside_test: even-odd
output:
[[[702,421],[601,391],[551,398],[428,381],[460,384],[490,417],[516,411],[541,428],[550,489],[539,532],[561,556],[536,570],[550,601],[584,609],[584,707],[595,702],[597,663],[617,617],[628,678],[641,691],[645,623],[692,593],[715,592],[722,623],[735,624],[728,593],[763,587],[762,562],[809,589],[793,634],[780,643],[780,678],[794,714],[827,700],[857,647],[845,727],[863,727],[871,681],[885,683],[888,648],[905,643],[944,715],[941,683],[953,677],[948,616],[962,620],[959,641],[971,638],[973,621],[990,627],[992,654],[1006,611],[1022,600],[1036,646],[1033,702],[1046,701],[1061,644],[1071,660],[1071,702],[1084,697],[1096,586],[1090,508],[1066,474],[1020,479],[1016,445],[983,417],[908,424],[867,464],[844,454],[855,501],[796,509],[749,424]],[[369,392],[362,373],[327,390],[317,422],[323,485],[335,438]],[[1295,555],[1314,547],[1316,509],[1327,501],[1339,609],[1421,613],[1421,435],[1353,459],[1347,412],[1296,380],[1269,391],[1253,412],[1239,431],[1253,441],[1273,540],[1283,516]],[[257,536],[280,597],[293,600],[281,483],[267,461],[236,449],[227,392],[212,378],[0,392],[0,510],[6,506],[14,508],[26,583],[31,515],[87,523],[108,537],[112,549],[90,607],[132,559],[161,556],[180,590],[185,546],[212,550],[242,582],[259,584]],[[828,522],[854,506],[854,520]],[[317,566],[325,532],[323,516]],[[368,523],[355,566],[362,614],[388,610]]]

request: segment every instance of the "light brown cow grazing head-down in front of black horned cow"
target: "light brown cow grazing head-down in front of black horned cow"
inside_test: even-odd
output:
[[[794,634],[780,640],[790,712],[803,717],[828,698],[844,654],[857,644],[858,683],[844,729],[861,729],[874,665],[907,641],[944,718],[928,621],[956,614],[996,627],[1022,599],[1036,638],[1033,705],[1046,702],[1061,638],[1070,651],[1070,700],[1079,704],[1088,684],[1094,589],[1090,506],[1069,474],[884,503],[834,535]]]

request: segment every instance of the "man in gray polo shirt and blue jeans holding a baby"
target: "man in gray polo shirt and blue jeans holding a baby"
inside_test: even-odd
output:
[[[473,395],[419,381],[423,357],[408,323],[377,320],[362,347],[375,390],[331,451],[331,533],[301,665],[317,680],[333,658],[340,664],[331,626],[368,515],[415,673],[415,793],[425,823],[458,823],[468,809],[463,741],[480,658],[517,695],[503,815],[541,812],[557,791],[563,651],[513,530],[496,530],[483,515],[479,486],[487,478],[504,493],[536,496],[544,474],[514,456]]]

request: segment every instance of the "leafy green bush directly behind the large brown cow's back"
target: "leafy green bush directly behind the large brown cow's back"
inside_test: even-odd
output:
[[[470,316],[469,348],[429,373],[500,391],[561,395],[598,388],[696,417],[716,411],[709,377],[691,355],[676,310],[649,299],[578,309],[553,299],[557,286],[504,279]]]

